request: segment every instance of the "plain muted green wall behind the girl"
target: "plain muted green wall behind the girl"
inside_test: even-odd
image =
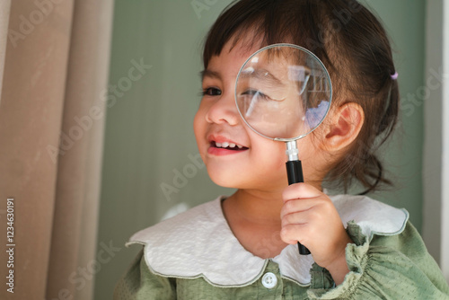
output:
[[[228,3],[116,1],[98,243],[120,251],[96,274],[96,300],[111,298],[115,282],[139,250],[124,247],[131,234],[154,225],[173,207],[193,207],[232,192],[214,186],[195,160],[192,130],[200,100],[201,42]],[[425,2],[365,3],[392,35],[402,98],[410,103],[407,95],[416,95],[424,83]],[[145,66],[130,75],[136,64]],[[423,121],[422,107],[412,108],[402,110],[403,129],[384,148],[397,189],[373,197],[406,207],[420,228]]]

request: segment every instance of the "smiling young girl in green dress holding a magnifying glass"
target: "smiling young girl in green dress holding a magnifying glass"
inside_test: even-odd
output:
[[[320,57],[334,91],[324,122],[298,142],[305,183],[290,186],[285,144],[252,132],[234,101],[246,58],[281,42]],[[399,92],[372,13],[356,0],[242,0],[209,31],[203,61],[199,153],[216,184],[238,190],[131,237],[145,247],[115,299],[449,299],[407,211],[321,187],[389,182],[374,150],[394,128]]]

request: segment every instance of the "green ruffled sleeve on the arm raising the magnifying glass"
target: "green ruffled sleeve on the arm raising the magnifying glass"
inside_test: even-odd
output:
[[[335,287],[330,273],[314,264],[310,298],[449,299],[441,270],[409,222],[401,234],[374,234],[371,241],[354,222],[347,231],[354,242],[346,248],[350,272]]]

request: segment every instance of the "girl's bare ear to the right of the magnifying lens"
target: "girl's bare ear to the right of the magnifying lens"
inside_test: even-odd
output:
[[[330,124],[325,133],[325,148],[338,151],[351,144],[365,122],[365,113],[356,102],[342,104],[331,112]]]

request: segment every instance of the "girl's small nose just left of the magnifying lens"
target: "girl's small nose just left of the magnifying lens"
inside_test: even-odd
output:
[[[233,93],[223,93],[207,110],[206,120],[209,123],[228,123],[231,126],[238,124],[240,115]]]

